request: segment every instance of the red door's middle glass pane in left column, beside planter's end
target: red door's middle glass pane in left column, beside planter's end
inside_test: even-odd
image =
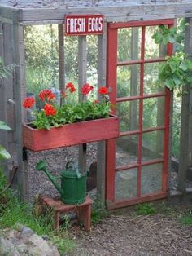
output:
[[[118,103],[116,108],[120,117],[120,131],[138,130],[139,100]]]

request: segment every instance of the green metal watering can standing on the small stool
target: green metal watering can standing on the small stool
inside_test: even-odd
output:
[[[63,170],[61,174],[61,186],[46,168],[46,161],[39,161],[36,169],[46,173],[47,177],[59,191],[61,201],[66,205],[78,205],[85,201],[87,173],[85,171],[82,174],[75,162],[68,162],[66,170]]]

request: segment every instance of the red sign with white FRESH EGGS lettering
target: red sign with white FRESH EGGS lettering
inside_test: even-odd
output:
[[[103,34],[103,15],[66,15],[65,35]]]

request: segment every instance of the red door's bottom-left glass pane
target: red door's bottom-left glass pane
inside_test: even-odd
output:
[[[116,172],[116,200],[137,196],[137,169]]]

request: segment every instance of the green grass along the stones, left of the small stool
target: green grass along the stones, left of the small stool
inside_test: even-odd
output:
[[[16,228],[17,223],[33,229],[37,235],[47,235],[59,249],[60,254],[72,252],[74,241],[68,235],[68,227],[54,230],[54,216],[51,212],[34,214],[34,206],[21,202],[11,189],[3,192],[6,183],[0,171],[0,228]],[[2,193],[3,192],[3,193]],[[2,203],[3,202],[3,203]]]

